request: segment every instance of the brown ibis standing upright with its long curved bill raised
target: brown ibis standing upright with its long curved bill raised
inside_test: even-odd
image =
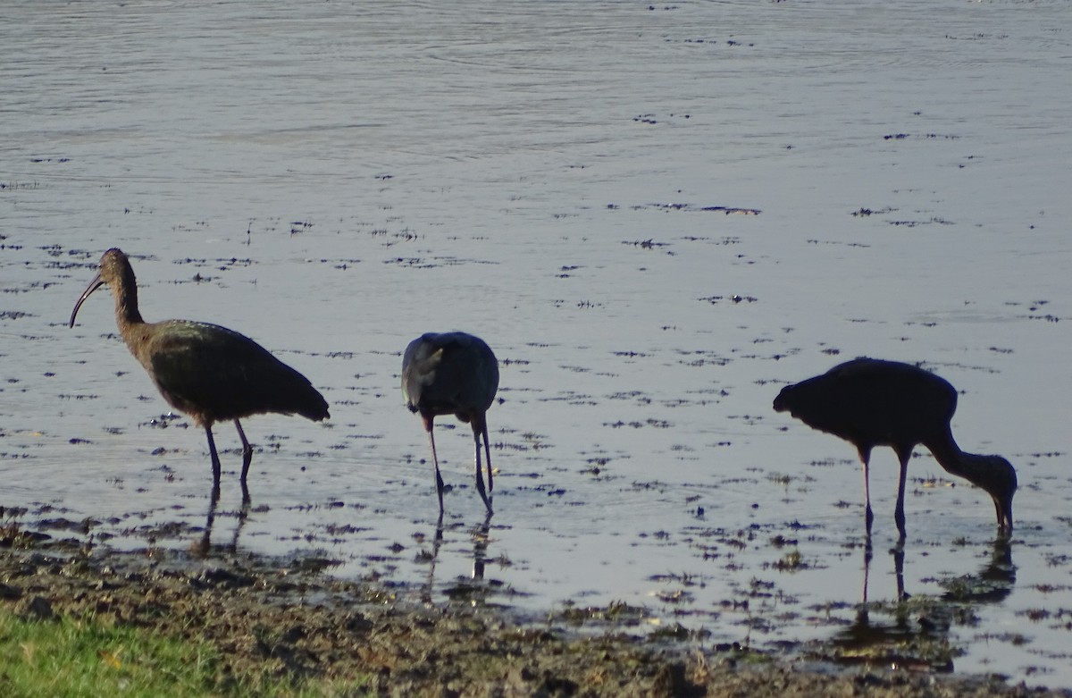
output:
[[[119,333],[169,405],[205,428],[212,455],[212,501],[220,494],[220,456],[212,425],[233,419],[242,440],[242,493],[253,448],[239,419],[276,412],[319,421],[328,415],[324,397],[301,375],[253,340],[238,332],[187,320],[146,323],[137,307],[134,269],[121,250],[101,257],[101,271],[86,286],[71,313],[71,327],[81,303],[107,284],[116,299]]]

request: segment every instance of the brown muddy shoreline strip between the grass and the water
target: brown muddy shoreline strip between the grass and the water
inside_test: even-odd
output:
[[[312,558],[117,552],[11,522],[0,530],[9,611],[208,641],[226,657],[220,690],[228,674],[257,669],[293,682],[363,677],[375,696],[1072,696],[998,677],[836,668],[685,633],[640,637],[611,613],[582,632],[561,615],[526,622],[472,598],[433,605],[397,591],[334,579]]]

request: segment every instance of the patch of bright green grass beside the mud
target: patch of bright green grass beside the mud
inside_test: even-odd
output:
[[[0,608],[0,696],[8,698],[364,695],[359,683],[299,681],[268,667],[232,675],[224,664],[208,643],[98,621],[27,621]]]

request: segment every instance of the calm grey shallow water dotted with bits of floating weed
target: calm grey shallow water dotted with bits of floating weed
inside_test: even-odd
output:
[[[1009,457],[1021,491],[1002,561],[985,494],[920,454],[905,590],[996,575],[932,637],[957,671],[1072,686],[1066,3],[2,15],[9,516],[78,539],[88,518],[130,549],[200,536],[204,434],[161,418],[104,292],[66,327],[118,246],[147,318],[238,329],[331,403],[323,425],[247,421],[241,523],[218,426],[214,544],[322,555],[431,603],[624,602],[647,609],[638,632],[761,648],[855,637],[855,452],[771,401],[857,355],[924,361],[962,390],[961,444]],[[406,342],[455,328],[502,362],[496,514],[485,526],[467,428],[441,419],[436,545],[398,381]],[[873,465],[867,598],[891,600],[896,460]]]

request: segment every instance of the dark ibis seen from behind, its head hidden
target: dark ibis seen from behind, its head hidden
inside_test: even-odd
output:
[[[435,492],[443,511],[443,477],[435,455],[432,420],[455,415],[473,427],[476,442],[476,489],[491,514],[491,448],[488,445],[488,407],[498,389],[498,361],[483,340],[465,332],[429,332],[410,342],[402,357],[402,396],[411,412],[420,413],[435,465]],[[488,462],[488,490],[480,473],[480,436]]]

